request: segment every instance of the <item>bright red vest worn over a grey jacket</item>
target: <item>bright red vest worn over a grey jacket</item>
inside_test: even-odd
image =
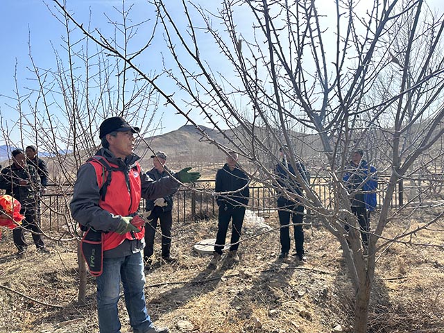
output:
[[[107,162],[110,164],[110,167],[117,167],[117,165],[110,163],[108,160]],[[96,170],[97,184],[99,185],[99,189],[101,189],[103,182],[106,181],[108,176],[108,171],[106,171],[100,162],[93,160],[89,161],[89,163],[91,163]],[[105,200],[100,198],[99,206],[114,215],[130,216],[130,214],[137,212],[142,194],[140,172],[140,164],[139,162],[135,162],[128,172],[130,182],[127,186],[123,171],[112,171],[111,182],[110,185],[108,185]],[[103,250],[117,248],[125,239],[142,239],[144,234],[145,228],[143,227],[139,232],[127,232],[126,234],[117,234],[117,232],[103,233]]]

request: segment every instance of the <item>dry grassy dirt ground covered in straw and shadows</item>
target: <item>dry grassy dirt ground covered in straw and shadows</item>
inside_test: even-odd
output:
[[[277,226],[275,216],[266,223]],[[386,235],[414,229],[421,219],[400,219]],[[322,228],[305,230],[307,262],[281,261],[278,230],[253,237],[245,228],[241,262],[209,269],[209,256],[192,250],[214,238],[215,221],[175,225],[175,264],[157,259],[146,273],[148,313],[171,332],[351,332],[352,289],[339,243]],[[368,332],[444,332],[443,223],[414,237],[423,246],[393,244],[377,261]],[[56,238],[57,234],[53,234]],[[60,236],[60,235],[59,235]],[[26,235],[32,243],[31,235]],[[49,255],[33,246],[17,257],[12,232],[0,242],[0,332],[98,332],[94,278],[87,305],[78,305],[75,241],[46,240]],[[132,332],[123,299],[121,332]],[[341,327],[339,327],[339,325]],[[336,331],[335,331],[336,329]],[[342,331],[339,331],[341,329]]]

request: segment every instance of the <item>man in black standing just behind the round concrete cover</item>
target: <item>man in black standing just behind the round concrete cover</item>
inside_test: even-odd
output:
[[[239,169],[237,164],[238,156],[237,153],[230,151],[227,162],[216,173],[216,187],[214,191],[221,194],[216,198],[217,205],[219,206],[219,223],[217,225],[214,254],[210,262],[210,266],[214,267],[222,257],[228,224],[231,219],[231,245],[228,257],[234,262],[239,262],[239,255],[237,255],[238,242],[241,237],[246,205],[248,205],[248,199],[250,198],[250,189],[248,187],[248,176]],[[232,193],[223,194],[223,192]]]

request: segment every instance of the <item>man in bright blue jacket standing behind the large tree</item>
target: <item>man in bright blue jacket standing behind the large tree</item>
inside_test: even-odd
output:
[[[352,160],[345,168],[343,180],[352,194],[350,198],[350,207],[352,213],[357,216],[360,228],[361,238],[364,248],[368,245],[368,231],[370,230],[370,213],[376,207],[377,189],[377,169],[368,164],[363,157],[361,150],[352,153]],[[348,232],[350,226],[345,224],[345,230]]]

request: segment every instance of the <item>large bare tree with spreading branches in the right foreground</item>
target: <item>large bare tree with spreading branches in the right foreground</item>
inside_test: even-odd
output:
[[[64,4],[55,1],[71,22]],[[73,22],[103,53],[123,61],[120,74],[133,71],[196,128],[189,110],[205,114],[220,133],[237,128],[234,136],[225,135],[228,145],[204,130],[202,135],[225,153],[228,146],[234,148],[255,166],[249,172],[253,180],[298,197],[338,239],[355,291],[355,332],[366,332],[377,255],[411,235],[384,237],[392,217],[407,207],[391,210],[395,187],[412,177],[419,161],[435,161],[430,151],[443,133],[442,17],[433,17],[422,0],[367,1],[364,9],[363,3],[338,0],[332,20],[319,12],[314,0],[223,0],[219,8],[182,1],[183,23],[167,1],[154,0],[152,5],[169,49],[164,75],[171,80],[158,80],[137,65],[145,48],[128,52],[117,39]],[[212,48],[201,42],[207,44],[209,36]],[[216,48],[217,57],[211,52]],[[173,99],[171,82],[184,100]],[[126,99],[120,101],[125,107]],[[69,106],[78,112],[78,105]],[[88,128],[78,131],[83,134]],[[85,137],[78,139],[84,142]],[[304,146],[310,149],[304,151]],[[361,147],[369,162],[388,173],[368,253],[361,248],[350,207],[356,192],[348,191],[343,181],[350,153]],[[278,148],[286,151],[294,170],[298,160],[310,164],[310,158],[316,158],[318,174],[331,179],[332,205],[298,173],[293,180],[302,184],[304,196],[277,185],[271,165],[280,163]],[[304,155],[308,151],[310,155]],[[409,198],[409,207],[415,202]],[[422,228],[435,222],[427,221]],[[348,234],[346,223],[352,227]]]

